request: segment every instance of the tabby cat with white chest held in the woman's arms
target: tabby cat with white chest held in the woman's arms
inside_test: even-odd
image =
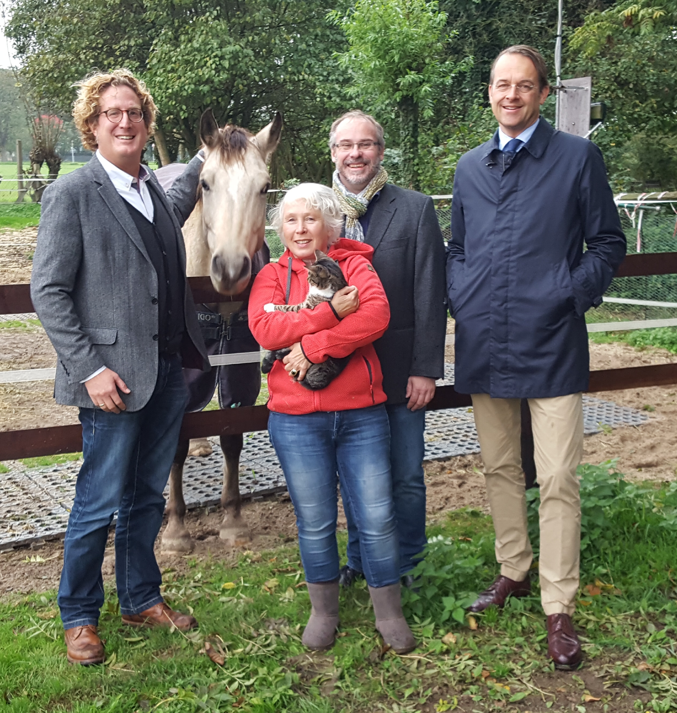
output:
[[[307,270],[309,289],[307,297],[301,304],[272,304],[269,302],[263,306],[263,309],[266,312],[275,312],[275,310],[298,312],[300,309],[315,309],[322,302],[331,302],[336,292],[348,286],[339,264],[321,250],[315,250],[315,262],[309,265]],[[261,371],[268,374],[270,369],[273,369],[275,361],[284,359],[289,352],[291,352],[289,348],[268,352],[263,357]],[[342,359],[328,356],[327,361],[323,361],[322,364],[312,364],[305,372],[305,378],[298,383],[312,391],[325,389],[345,369],[348,361],[350,361],[350,356],[345,356]],[[296,377],[295,381],[298,381]]]

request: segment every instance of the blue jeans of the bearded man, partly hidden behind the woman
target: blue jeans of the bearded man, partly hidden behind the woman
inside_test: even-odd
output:
[[[423,466],[425,409],[410,411],[404,404],[387,404],[390,421],[390,468],[392,498],[399,535],[399,573],[406,574],[420,560],[427,543],[425,536],[425,481]],[[343,498],[348,524],[348,565],[363,572],[360,533],[350,502]]]

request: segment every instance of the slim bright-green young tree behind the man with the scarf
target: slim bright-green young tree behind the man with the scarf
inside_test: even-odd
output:
[[[421,185],[419,133],[434,116],[434,103],[457,73],[472,60],[445,57],[451,39],[447,15],[436,0],[357,0],[345,15],[330,17],[345,31],[350,48],[337,55],[352,74],[350,95],[375,111],[394,111],[399,120],[401,177],[404,185]]]

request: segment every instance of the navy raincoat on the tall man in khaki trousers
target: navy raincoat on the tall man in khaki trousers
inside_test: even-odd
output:
[[[497,131],[462,156],[454,178],[455,389],[502,399],[586,391],[584,315],[626,253],[604,159],[544,118],[505,170],[498,146]]]

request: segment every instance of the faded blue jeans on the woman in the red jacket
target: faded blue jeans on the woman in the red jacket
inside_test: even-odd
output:
[[[385,407],[302,416],[273,411],[268,432],[294,504],[306,581],[332,582],[339,576],[336,520],[340,482],[360,533],[367,583],[372,587],[395,584],[399,580],[399,547]]]

